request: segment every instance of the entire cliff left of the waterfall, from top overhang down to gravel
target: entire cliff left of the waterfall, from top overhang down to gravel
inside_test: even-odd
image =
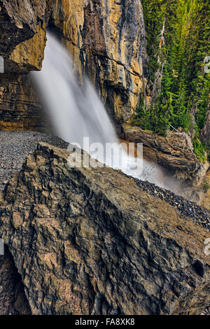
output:
[[[33,129],[43,121],[27,76],[41,69],[48,20],[46,1],[0,1],[0,129]]]

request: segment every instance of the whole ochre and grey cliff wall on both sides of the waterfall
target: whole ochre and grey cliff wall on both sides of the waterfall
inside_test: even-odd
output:
[[[20,127],[22,121],[28,127],[36,125],[38,101],[29,92],[29,82],[25,89],[22,74],[41,69],[48,25],[73,55],[80,80],[87,73],[113,118],[119,122],[130,117],[142,92],[146,61],[141,0],[16,0],[0,1],[0,6],[0,55],[5,59],[5,72],[18,75],[15,83],[24,90],[21,101],[13,89],[8,88],[6,95],[3,91],[0,121],[6,117],[17,128],[17,118],[10,111],[18,103],[18,115],[24,118],[18,120]],[[8,81],[1,74],[2,89],[6,83],[13,83],[13,77]]]

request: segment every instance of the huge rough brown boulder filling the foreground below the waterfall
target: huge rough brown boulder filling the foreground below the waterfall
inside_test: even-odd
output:
[[[1,196],[32,314],[201,314],[209,231],[111,168],[39,144]],[[201,297],[202,296],[202,297]]]

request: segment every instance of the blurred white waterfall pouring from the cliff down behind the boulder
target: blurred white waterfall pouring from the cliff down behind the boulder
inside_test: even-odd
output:
[[[69,52],[50,33],[45,48],[43,69],[40,72],[33,72],[32,77],[59,137],[80,146],[83,146],[83,137],[89,137],[90,144],[97,142],[105,146],[107,143],[115,143],[115,147],[118,147],[116,132],[97,92],[87,78],[83,87],[79,85]],[[134,156],[129,157],[127,152],[123,151],[121,157],[120,167],[112,167],[169,188],[163,183],[164,175],[158,165],[142,159],[139,172],[133,171],[132,167],[136,164]],[[98,159],[110,165],[110,159]]]

